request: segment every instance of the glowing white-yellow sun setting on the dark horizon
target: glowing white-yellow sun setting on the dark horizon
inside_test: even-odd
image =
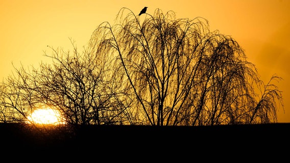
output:
[[[39,108],[35,110],[28,120],[36,124],[63,124],[60,113],[52,108]]]

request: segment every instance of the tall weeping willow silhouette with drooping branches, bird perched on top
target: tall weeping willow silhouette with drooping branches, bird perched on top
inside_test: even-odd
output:
[[[138,16],[122,8],[116,22],[100,24],[90,46],[114,60],[111,67],[129,86],[128,109],[139,124],[277,122],[282,94],[271,83],[281,78],[273,75],[264,85],[243,48],[211,32],[206,19],[177,19],[160,9]]]

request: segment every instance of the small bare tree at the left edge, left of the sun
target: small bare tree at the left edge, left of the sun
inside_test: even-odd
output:
[[[2,122],[27,121],[36,103],[30,90],[30,73],[22,73],[25,71],[23,66],[15,70],[15,74],[8,76],[0,86]]]

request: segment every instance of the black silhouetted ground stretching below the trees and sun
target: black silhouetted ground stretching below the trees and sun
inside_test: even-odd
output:
[[[151,156],[176,159],[243,159],[290,154],[290,124],[223,126],[86,126],[78,131],[65,127],[0,124],[1,149],[7,153],[45,153],[68,157],[98,156],[112,159],[120,154],[126,159]],[[17,155],[17,154],[16,154]],[[83,157],[83,155],[82,155]],[[139,162],[139,161],[137,161]],[[143,162],[143,161],[141,161]],[[235,162],[235,161],[234,161]]]

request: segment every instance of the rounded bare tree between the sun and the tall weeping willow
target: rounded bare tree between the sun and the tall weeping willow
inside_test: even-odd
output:
[[[128,101],[123,98],[116,74],[110,73],[110,57],[93,50],[89,47],[80,54],[74,46],[72,54],[62,49],[53,49],[51,56],[45,54],[53,59],[53,65],[40,65],[35,79],[41,86],[38,92],[43,100],[61,110],[69,123],[127,123]]]

